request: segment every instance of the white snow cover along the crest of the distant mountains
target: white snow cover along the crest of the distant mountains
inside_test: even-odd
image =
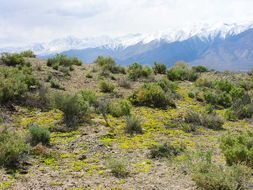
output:
[[[253,28],[253,23],[244,24],[226,24],[218,23],[215,25],[197,24],[182,29],[169,28],[151,34],[131,34],[118,38],[108,36],[92,37],[79,39],[68,36],[62,39],[55,39],[47,43],[36,43],[25,47],[7,47],[0,48],[0,52],[20,52],[31,49],[38,55],[47,55],[61,53],[71,49],[86,48],[106,48],[106,49],[124,49],[138,43],[148,44],[150,42],[165,41],[167,43],[184,41],[191,37],[198,37],[201,40],[214,40],[216,38],[225,39],[230,36],[238,35],[241,32]]]

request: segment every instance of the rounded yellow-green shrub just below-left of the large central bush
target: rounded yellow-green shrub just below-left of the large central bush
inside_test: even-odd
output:
[[[131,103],[127,100],[111,102],[109,112],[114,117],[128,116],[131,112]]]

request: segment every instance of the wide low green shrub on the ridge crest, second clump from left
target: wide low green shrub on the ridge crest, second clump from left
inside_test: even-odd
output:
[[[66,55],[60,55],[57,54],[55,57],[53,58],[49,58],[47,60],[47,66],[49,67],[56,67],[58,65],[59,66],[63,66],[63,67],[71,67],[73,65],[82,65],[82,61],[80,61],[78,58],[76,57],[68,57]],[[58,70],[58,69],[56,69]]]

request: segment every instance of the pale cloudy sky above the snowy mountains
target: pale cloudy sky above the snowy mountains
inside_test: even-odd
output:
[[[0,0],[0,47],[253,21],[253,0]]]

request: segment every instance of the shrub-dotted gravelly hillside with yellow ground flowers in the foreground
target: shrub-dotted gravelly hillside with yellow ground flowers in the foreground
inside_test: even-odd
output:
[[[0,71],[0,189],[252,188],[252,73],[31,52]]]

